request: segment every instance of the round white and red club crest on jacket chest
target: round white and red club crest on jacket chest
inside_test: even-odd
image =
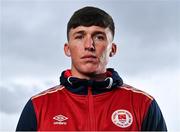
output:
[[[113,112],[111,120],[116,126],[126,128],[132,124],[133,117],[127,110],[116,110]]]

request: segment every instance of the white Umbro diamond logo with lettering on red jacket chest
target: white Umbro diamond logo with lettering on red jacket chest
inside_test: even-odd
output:
[[[66,125],[67,124],[66,120],[68,118],[65,117],[64,115],[57,115],[57,116],[54,116],[53,119],[55,120],[54,121],[55,125]]]

